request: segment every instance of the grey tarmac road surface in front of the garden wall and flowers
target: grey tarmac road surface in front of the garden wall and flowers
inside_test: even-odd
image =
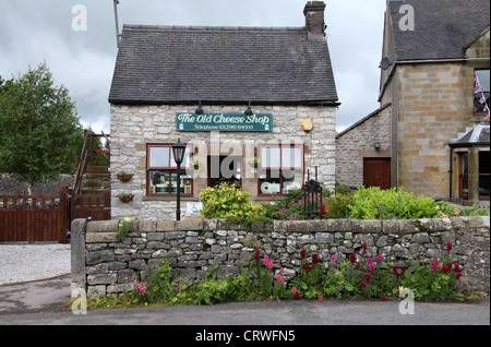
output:
[[[83,310],[79,301],[72,310],[67,306],[70,297],[70,275],[0,286],[0,325],[188,325],[195,334],[203,326],[295,326],[300,334],[301,326],[309,325],[490,325],[489,297],[474,302],[416,301],[412,312],[399,300],[307,299],[105,310]]]

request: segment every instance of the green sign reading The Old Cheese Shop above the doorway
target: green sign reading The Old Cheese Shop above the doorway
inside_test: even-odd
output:
[[[177,131],[272,131],[273,115],[176,113]]]

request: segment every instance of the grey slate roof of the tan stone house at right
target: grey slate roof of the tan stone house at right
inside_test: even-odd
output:
[[[403,4],[415,10],[415,31],[400,31]],[[489,0],[395,0],[388,2],[396,60],[459,59],[490,22]]]

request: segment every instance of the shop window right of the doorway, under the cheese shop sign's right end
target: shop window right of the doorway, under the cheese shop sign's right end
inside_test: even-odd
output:
[[[287,194],[301,189],[303,182],[303,146],[264,145],[259,147],[260,195]]]

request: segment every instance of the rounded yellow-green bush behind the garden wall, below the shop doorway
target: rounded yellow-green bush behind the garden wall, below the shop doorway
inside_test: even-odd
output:
[[[264,207],[249,200],[250,193],[236,186],[221,183],[203,190],[200,194],[203,210],[200,213],[208,219],[247,219],[264,215]]]

